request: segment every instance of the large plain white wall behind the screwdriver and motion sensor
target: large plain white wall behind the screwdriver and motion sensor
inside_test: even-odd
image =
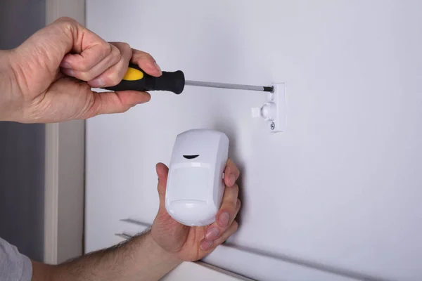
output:
[[[151,223],[155,163],[177,133],[224,131],[242,170],[230,242],[356,278],[421,280],[420,1],[87,1],[87,26],[187,79],[286,82],[288,127],[267,133],[263,93],[188,88],[87,122],[87,251],[120,218]],[[110,17],[109,15],[113,15]],[[231,253],[231,254],[230,254]],[[259,280],[309,280],[238,251],[207,261]],[[315,280],[315,279],[313,279]],[[320,277],[319,280],[328,280]]]

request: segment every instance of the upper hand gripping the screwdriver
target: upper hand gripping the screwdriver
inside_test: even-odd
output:
[[[126,112],[147,103],[140,91],[97,93],[119,84],[129,63],[160,77],[148,53],[107,42],[75,20],[60,18],[12,50],[0,50],[0,121],[53,123]]]

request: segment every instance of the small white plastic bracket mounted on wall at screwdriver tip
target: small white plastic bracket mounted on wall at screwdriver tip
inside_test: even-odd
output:
[[[268,93],[267,103],[253,107],[252,117],[264,118],[268,131],[279,133],[286,130],[286,85],[278,83],[271,86],[274,91]]]

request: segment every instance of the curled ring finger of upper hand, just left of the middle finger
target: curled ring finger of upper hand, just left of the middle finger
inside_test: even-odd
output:
[[[67,74],[68,76],[75,77],[82,81],[90,81],[99,75],[103,74],[103,72],[106,72],[106,70],[110,69],[110,67],[113,67],[116,63],[120,61],[121,54],[119,48],[116,46],[111,45],[111,52],[106,56],[106,58],[103,58],[99,63],[94,65],[94,67],[91,67],[88,71],[79,71],[79,70],[72,70],[71,68],[62,68],[62,72]],[[100,88],[103,86],[106,86],[103,80],[97,80],[94,81],[94,88]]]

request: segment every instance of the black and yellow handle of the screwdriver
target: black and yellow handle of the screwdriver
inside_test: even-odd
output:
[[[181,70],[162,72],[160,77],[153,77],[138,65],[129,64],[122,81],[116,86],[106,87],[110,91],[171,91],[179,95],[184,89],[185,78]]]

